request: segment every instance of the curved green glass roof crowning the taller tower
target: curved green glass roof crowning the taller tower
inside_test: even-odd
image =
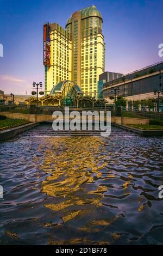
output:
[[[95,5],[91,5],[90,7],[84,8],[81,11],[82,14],[82,19],[85,19],[86,17],[90,16],[96,16],[102,19],[101,13],[96,9]],[[67,20],[67,24],[72,22],[72,15],[71,17]]]

